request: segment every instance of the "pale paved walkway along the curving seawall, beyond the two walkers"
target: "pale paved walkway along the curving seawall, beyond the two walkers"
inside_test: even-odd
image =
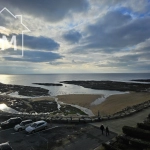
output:
[[[125,117],[122,119],[116,119],[116,120],[91,123],[91,125],[99,127],[101,124],[103,124],[105,127],[108,126],[110,131],[120,134],[120,133],[122,133],[123,126],[125,126],[125,125],[136,126],[137,123],[143,122],[144,119],[146,119],[146,117],[148,116],[148,114],[150,114],[150,108],[144,109],[141,112],[138,112],[129,117]]]

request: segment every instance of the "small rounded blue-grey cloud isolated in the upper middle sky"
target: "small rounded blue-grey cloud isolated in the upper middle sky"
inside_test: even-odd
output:
[[[71,44],[78,43],[82,35],[75,30],[71,30],[63,35],[63,38]]]

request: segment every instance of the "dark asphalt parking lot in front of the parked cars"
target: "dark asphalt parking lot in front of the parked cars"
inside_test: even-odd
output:
[[[15,132],[13,128],[0,129],[0,143],[9,141],[14,150],[90,150],[114,136],[114,133],[109,137],[101,135],[98,128],[90,125],[49,124],[46,130],[34,134]]]

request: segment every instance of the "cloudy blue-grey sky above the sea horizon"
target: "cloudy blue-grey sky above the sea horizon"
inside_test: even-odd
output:
[[[1,74],[150,73],[150,0],[0,0],[3,8],[23,24],[0,13]]]

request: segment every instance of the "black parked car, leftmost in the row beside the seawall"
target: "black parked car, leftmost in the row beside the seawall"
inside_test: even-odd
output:
[[[1,128],[13,128],[15,125],[21,123],[22,119],[20,117],[10,118],[7,121],[2,122]]]

